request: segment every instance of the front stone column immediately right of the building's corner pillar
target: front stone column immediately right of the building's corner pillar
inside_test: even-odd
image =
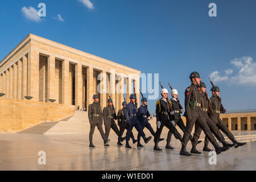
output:
[[[54,99],[56,100],[55,97],[55,57],[54,56],[49,56],[48,57],[48,75],[47,75],[47,94],[48,94],[48,100],[49,99]],[[47,101],[49,102],[49,101]]]

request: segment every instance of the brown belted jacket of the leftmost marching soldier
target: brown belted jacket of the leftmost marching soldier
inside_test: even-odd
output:
[[[94,114],[99,116],[96,116]],[[88,117],[89,117],[90,124],[97,124],[97,123],[102,124],[103,118],[102,118],[101,105],[99,103],[93,102],[93,104],[89,105]]]

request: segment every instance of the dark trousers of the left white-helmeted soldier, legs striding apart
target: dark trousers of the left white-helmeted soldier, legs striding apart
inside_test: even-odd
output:
[[[156,129],[155,139],[154,139],[155,143],[159,142],[160,135],[162,133],[162,130],[163,130],[164,126],[166,126],[171,131],[171,133],[174,134],[176,139],[180,139],[181,140],[181,135],[179,134],[179,132],[177,131],[175,126],[172,125],[172,123],[169,120],[166,120],[166,121],[161,121],[160,127],[159,128],[157,127],[157,129]]]

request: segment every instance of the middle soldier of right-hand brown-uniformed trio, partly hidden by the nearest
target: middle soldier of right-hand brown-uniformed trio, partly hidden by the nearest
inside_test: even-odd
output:
[[[212,131],[213,135],[218,139],[218,141],[223,144],[223,147],[233,147],[235,144],[229,144],[228,142],[225,141],[220,130],[218,130],[218,127],[213,123],[213,121],[211,119],[212,115],[210,115],[210,113],[209,113],[209,106],[208,106],[208,101],[207,101],[208,95],[205,96],[205,94],[204,94],[206,92],[206,86],[205,86],[204,82],[200,83],[200,86],[198,86],[198,89],[199,89],[199,92],[201,93],[201,101],[202,101],[201,110],[203,113],[202,117],[207,122],[207,125],[210,128],[210,131]],[[201,152],[196,150],[197,141],[200,138],[201,131],[202,131],[202,129],[196,123],[195,133],[194,133],[193,139],[192,139],[192,149],[191,149],[192,154],[201,154]],[[205,137],[203,151],[207,151],[207,152],[212,151],[212,150],[210,150],[210,148],[208,148],[208,144],[209,144],[209,139],[207,137]]]

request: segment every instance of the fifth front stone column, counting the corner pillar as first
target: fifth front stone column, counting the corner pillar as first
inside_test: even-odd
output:
[[[86,98],[86,101],[87,101],[87,110],[88,110],[88,106],[90,104],[93,103],[93,67],[89,67],[87,68],[87,90],[86,90],[86,95],[87,95],[87,98]],[[103,109],[103,108],[102,108]]]

